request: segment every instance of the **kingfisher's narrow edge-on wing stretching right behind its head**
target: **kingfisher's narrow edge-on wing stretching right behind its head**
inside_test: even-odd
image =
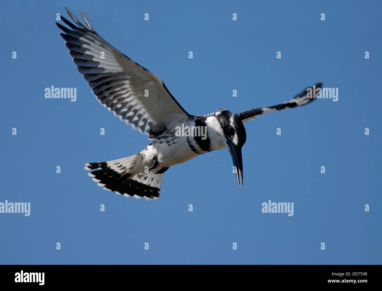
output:
[[[236,113],[236,116],[241,120],[241,122],[246,122],[248,120],[251,120],[259,115],[269,113],[269,112],[274,112],[278,110],[283,110],[283,109],[289,109],[293,107],[298,107],[305,105],[309,102],[312,102],[313,100],[316,100],[316,95],[318,95],[317,91],[314,90],[314,88],[321,88],[322,83],[317,83],[314,85],[315,87],[308,87],[306,88],[303,92],[298,94],[296,97],[293,97],[292,99],[279,104],[279,105],[274,105],[271,107],[259,107],[259,108],[253,108],[249,110],[245,110],[239,113]],[[309,90],[311,88],[312,90]],[[312,94],[310,96],[307,96],[307,94],[311,92]],[[308,98],[310,97],[310,98]]]

